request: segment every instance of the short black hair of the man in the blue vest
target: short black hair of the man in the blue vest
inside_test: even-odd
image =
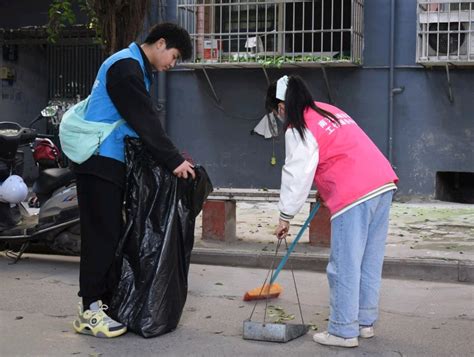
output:
[[[153,44],[160,38],[166,41],[166,48],[176,48],[183,60],[191,58],[192,44],[188,31],[181,26],[164,22],[153,26],[145,39],[146,44]]]

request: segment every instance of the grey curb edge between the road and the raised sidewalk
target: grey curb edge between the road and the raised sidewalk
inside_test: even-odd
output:
[[[191,263],[268,269],[273,261],[272,253],[254,253],[243,250],[194,248]],[[293,253],[288,263],[296,270],[326,272],[328,255]],[[287,264],[287,267],[289,267]],[[442,282],[474,282],[474,262],[461,260],[437,260],[386,257],[384,278],[428,280]]]

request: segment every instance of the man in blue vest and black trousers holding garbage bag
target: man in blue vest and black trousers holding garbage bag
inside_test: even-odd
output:
[[[152,71],[167,71],[179,58],[191,57],[191,39],[170,23],[153,27],[142,45],[132,43],[101,65],[85,113],[88,121],[114,123],[124,119],[90,159],[74,166],[81,216],[81,264],[78,333],[116,337],[126,327],[106,314],[112,291],[109,274],[122,233],[125,185],[125,136],[139,137],[154,158],[177,177],[194,178],[186,161],[158,119],[150,96]]]

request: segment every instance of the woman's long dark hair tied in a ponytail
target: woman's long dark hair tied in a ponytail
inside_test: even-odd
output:
[[[282,102],[276,97],[277,83],[270,84],[267,90],[267,98],[265,100],[265,108],[267,111],[278,111],[278,103]],[[288,77],[288,87],[285,94],[285,130],[288,127],[295,128],[304,140],[304,129],[306,123],[304,121],[304,111],[310,107],[319,115],[328,118],[334,124],[339,125],[336,116],[327,110],[319,108],[304,81],[299,76]]]

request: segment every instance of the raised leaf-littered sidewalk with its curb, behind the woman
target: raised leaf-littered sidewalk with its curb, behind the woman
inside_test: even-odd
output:
[[[293,237],[308,212],[306,204],[293,220]],[[233,243],[203,240],[198,217],[193,262],[269,267],[278,215],[276,203],[238,202],[237,241]],[[310,246],[306,231],[291,260],[297,269],[323,272],[329,252],[329,248]],[[395,202],[385,257],[386,277],[474,282],[474,205],[435,200]]]

